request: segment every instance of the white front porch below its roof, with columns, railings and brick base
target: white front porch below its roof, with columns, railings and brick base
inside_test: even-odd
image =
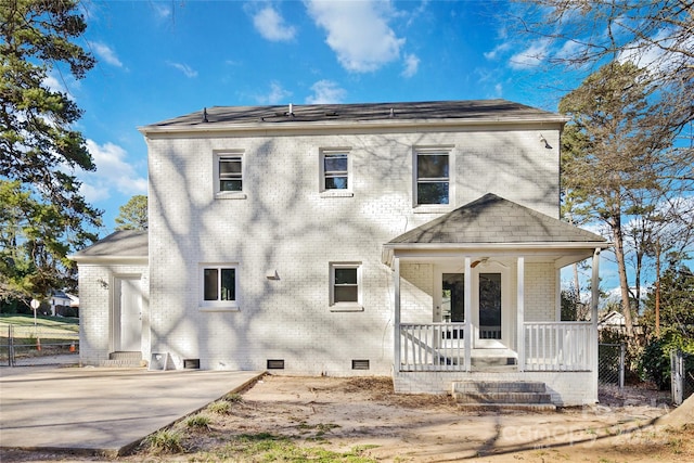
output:
[[[593,287],[597,287],[599,250],[593,249]],[[543,383],[555,406],[582,406],[597,401],[597,305],[593,304],[590,321],[561,321],[560,294],[554,291],[560,284],[556,275],[538,284],[539,270],[554,268],[554,263],[538,260],[526,263],[523,256],[496,256],[507,268],[499,279],[500,291],[494,324],[484,322],[488,300],[480,297],[484,288],[478,286],[478,273],[488,274],[490,268],[473,269],[475,257],[460,257],[464,263],[461,274],[466,281],[463,290],[463,309],[454,309],[455,297],[447,300],[447,290],[432,284],[434,288],[429,305],[411,305],[421,299],[422,290],[411,279],[411,268],[428,266],[434,281],[445,279],[450,266],[438,263],[413,263],[406,257],[394,260],[394,384],[398,393],[451,394],[457,382],[506,382]],[[458,258],[457,258],[458,259]],[[402,261],[400,261],[402,260]],[[515,262],[513,262],[515,260]],[[400,267],[406,271],[400,272]],[[408,270],[410,268],[410,270]],[[437,270],[439,269],[439,270]],[[444,270],[441,270],[444,269]],[[526,280],[528,282],[526,282]],[[535,281],[535,282],[534,282]],[[473,285],[473,282],[476,283]],[[547,292],[543,287],[551,287]],[[438,292],[441,291],[442,294]],[[465,296],[465,295],[470,296]],[[544,304],[529,307],[529,300],[543,296]],[[593,295],[597,300],[597,295]],[[447,313],[462,312],[462,321],[425,322],[422,319],[440,320]],[[444,310],[439,310],[440,308]],[[526,320],[526,317],[545,320]],[[453,317],[454,318],[454,317]],[[549,319],[549,320],[548,320]]]

